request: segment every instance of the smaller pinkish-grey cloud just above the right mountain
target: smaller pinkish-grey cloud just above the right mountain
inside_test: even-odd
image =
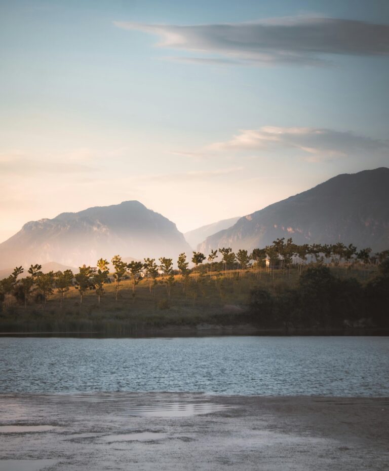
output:
[[[263,126],[241,130],[232,139],[215,142],[211,151],[299,150],[306,161],[318,162],[367,151],[389,152],[389,141],[359,136],[352,132],[309,127]]]

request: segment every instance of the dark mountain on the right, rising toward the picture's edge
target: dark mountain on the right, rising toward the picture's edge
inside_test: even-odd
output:
[[[293,242],[353,243],[373,251],[389,248],[389,169],[341,174],[315,188],[241,218],[199,247],[252,250],[291,237]]]

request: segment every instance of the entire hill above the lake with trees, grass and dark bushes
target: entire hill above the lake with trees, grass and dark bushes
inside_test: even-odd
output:
[[[2,334],[387,334],[389,250],[282,238],[78,273],[35,264],[0,281],[0,301]]]

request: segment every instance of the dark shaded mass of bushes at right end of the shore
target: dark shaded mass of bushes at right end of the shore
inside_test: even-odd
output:
[[[365,284],[341,279],[324,265],[308,266],[296,287],[270,293],[253,288],[250,320],[261,328],[389,328],[389,258]]]

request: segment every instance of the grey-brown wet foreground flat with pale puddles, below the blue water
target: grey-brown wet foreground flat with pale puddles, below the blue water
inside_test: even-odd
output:
[[[0,471],[383,471],[388,418],[389,398],[0,395]]]

